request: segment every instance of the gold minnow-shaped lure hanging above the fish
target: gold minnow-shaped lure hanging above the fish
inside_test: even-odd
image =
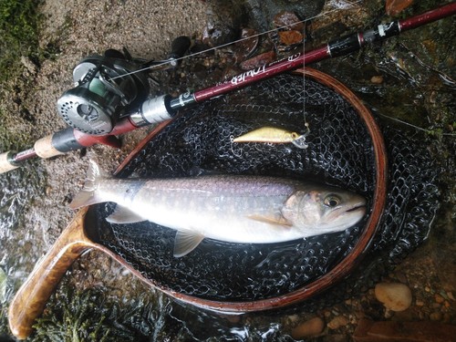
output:
[[[296,132],[279,129],[275,127],[262,127],[257,130],[251,130],[237,138],[233,142],[271,142],[271,143],[293,143],[300,149],[306,149],[306,134],[299,135]]]

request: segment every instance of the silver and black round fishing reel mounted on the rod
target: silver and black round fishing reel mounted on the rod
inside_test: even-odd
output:
[[[76,87],[57,100],[58,114],[83,133],[109,134],[135,100],[149,93],[146,73],[137,72],[140,67],[117,50],[84,58],[73,70]]]

